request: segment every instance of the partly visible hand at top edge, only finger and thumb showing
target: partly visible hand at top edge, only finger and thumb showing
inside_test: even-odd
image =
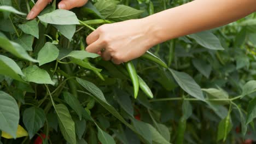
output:
[[[52,0],[38,0],[34,7],[31,9],[30,13],[27,15],[27,20],[32,20],[49,4]],[[82,7],[86,4],[88,0],[62,0],[58,7],[59,9],[72,9],[75,7]]]

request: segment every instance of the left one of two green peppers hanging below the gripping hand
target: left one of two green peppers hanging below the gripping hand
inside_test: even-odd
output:
[[[139,90],[139,81],[138,81],[136,69],[135,69],[132,61],[126,62],[125,67],[130,75],[132,85],[133,85],[133,93],[134,93],[134,97],[136,99],[138,96],[138,90]]]

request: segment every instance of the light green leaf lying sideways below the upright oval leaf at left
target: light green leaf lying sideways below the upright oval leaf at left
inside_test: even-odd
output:
[[[51,81],[50,75],[47,73],[46,70],[40,69],[37,65],[31,65],[22,70],[24,73],[23,79],[25,81],[30,81],[39,84],[50,84],[54,85],[54,82]]]

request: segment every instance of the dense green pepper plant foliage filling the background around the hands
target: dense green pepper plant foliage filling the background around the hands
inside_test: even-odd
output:
[[[168,68],[133,60],[151,89],[136,99],[124,64],[85,51],[104,23],[187,2],[94,0],[72,12],[53,1],[27,21],[33,0],[0,0],[0,143],[256,140],[255,14],[150,49]]]

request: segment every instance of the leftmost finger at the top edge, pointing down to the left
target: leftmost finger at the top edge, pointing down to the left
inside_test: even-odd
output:
[[[27,20],[32,20],[46,7],[51,0],[38,0],[34,7],[31,9],[30,13],[27,15]]]

